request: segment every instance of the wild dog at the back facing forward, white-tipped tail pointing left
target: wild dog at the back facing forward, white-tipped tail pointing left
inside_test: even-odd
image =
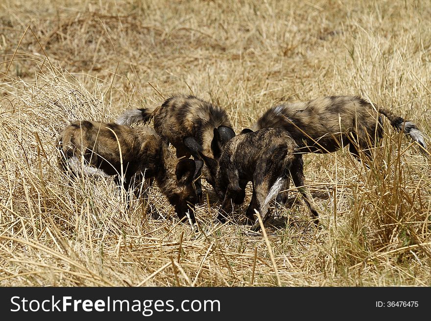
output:
[[[198,159],[200,156],[196,150],[199,150],[207,157],[218,159],[224,144],[235,136],[224,109],[191,95],[172,96],[154,108],[125,111],[117,123],[147,123],[151,118],[154,118],[156,132],[175,147],[177,157],[193,155]],[[205,165],[202,173],[214,187],[215,177]],[[200,186],[197,180],[198,190]]]

